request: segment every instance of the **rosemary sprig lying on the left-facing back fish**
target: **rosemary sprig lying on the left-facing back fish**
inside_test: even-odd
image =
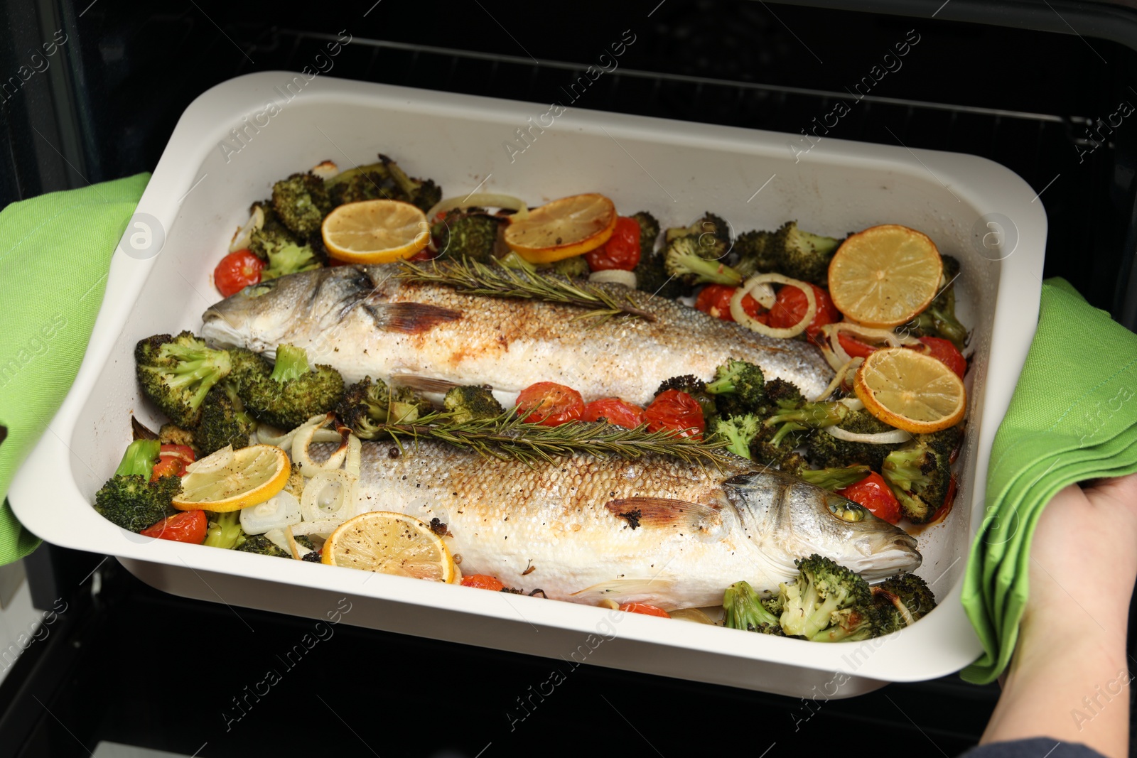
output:
[[[574,283],[555,274],[539,274],[505,266],[487,266],[476,260],[432,260],[426,265],[401,261],[400,278],[423,284],[450,286],[460,292],[489,298],[522,298],[546,300],[566,306],[587,308],[581,318],[611,318],[632,316],[654,322],[655,315],[639,307],[630,294],[622,298],[595,284]]]

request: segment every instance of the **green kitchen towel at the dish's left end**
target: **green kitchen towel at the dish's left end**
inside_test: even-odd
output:
[[[55,434],[49,423],[86,352],[110,256],[149,180],[139,174],[51,192],[0,211],[0,425],[7,431],[0,565],[40,544],[13,514],[8,486],[40,435]]]

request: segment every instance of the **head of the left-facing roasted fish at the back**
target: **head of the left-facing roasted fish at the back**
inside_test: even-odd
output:
[[[269,356],[282,342],[310,343],[299,331],[317,335],[342,320],[385,282],[375,274],[370,266],[333,266],[250,284],[206,310],[201,334]]]

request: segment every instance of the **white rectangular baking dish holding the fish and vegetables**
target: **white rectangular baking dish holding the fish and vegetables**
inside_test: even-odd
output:
[[[960,589],[984,510],[990,442],[1037,318],[1046,217],[1035,193],[972,156],[829,138],[803,152],[810,143],[794,135],[579,109],[542,131],[548,110],[282,72],[243,76],[198,98],[138,208],[160,224],[165,247],[146,259],[115,253],[75,385],[13,484],[19,519],[49,542],[114,555],[175,594],[309,617],[324,617],[347,595],[350,624],[783,694],[848,697],[973,660],[980,648]],[[518,128],[530,142],[523,152]],[[200,327],[201,313],[219,299],[213,267],[250,201],[267,197],[275,180],[326,158],[342,167],[368,163],[377,151],[447,194],[480,186],[537,203],[596,191],[623,213],[647,209],[664,225],[711,209],[738,231],[788,218],[832,235],[898,223],[958,257],[961,313],[974,327],[976,353],[964,474],[955,511],[920,535],[920,574],[940,607],[888,638],[808,643],[150,540],[96,514],[90,503],[130,440],[130,414],[157,422],[135,386],[135,341]],[[990,214],[1001,215],[1001,226],[986,224]],[[1003,248],[988,249],[1001,231]]]

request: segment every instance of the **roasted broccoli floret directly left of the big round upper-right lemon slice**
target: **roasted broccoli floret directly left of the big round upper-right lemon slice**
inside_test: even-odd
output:
[[[824,286],[829,282],[829,261],[841,241],[811,234],[786,222],[777,232],[747,232],[739,236],[736,268],[749,276],[760,272],[778,272]]]

